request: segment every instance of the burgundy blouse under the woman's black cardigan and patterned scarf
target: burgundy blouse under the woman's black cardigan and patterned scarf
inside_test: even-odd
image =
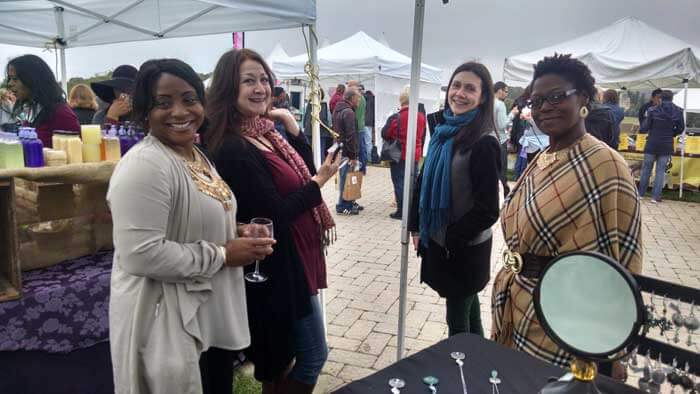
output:
[[[304,183],[294,172],[294,169],[284,159],[274,152],[262,152],[272,170],[272,180],[280,195],[298,190]],[[321,232],[314,220],[313,212],[308,210],[292,223],[292,238],[297,247],[297,253],[304,264],[306,282],[312,295],[318,289],[328,287],[326,283],[326,262],[321,249]]]

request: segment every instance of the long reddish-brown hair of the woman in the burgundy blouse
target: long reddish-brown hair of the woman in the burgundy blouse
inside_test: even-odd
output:
[[[203,140],[209,152],[216,153],[227,136],[240,136],[243,116],[236,108],[236,101],[241,84],[240,68],[246,60],[260,63],[270,81],[270,90],[274,87],[274,74],[260,54],[245,48],[224,53],[216,64],[207,92],[206,114],[209,125]]]

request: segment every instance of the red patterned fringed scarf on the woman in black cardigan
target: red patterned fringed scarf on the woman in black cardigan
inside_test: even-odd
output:
[[[279,132],[275,130],[275,123],[273,121],[261,117],[246,119],[241,124],[241,135],[254,139],[265,137],[272,143],[272,146],[282,159],[287,162],[297,176],[302,179],[304,184],[311,182],[311,173],[306,167],[304,159],[302,159],[299,153],[297,153],[297,151],[282,138]],[[322,201],[321,204],[314,207],[312,210],[314,221],[319,225],[321,230],[321,243],[325,250],[328,245],[332,244],[337,239],[335,222],[325,202]]]

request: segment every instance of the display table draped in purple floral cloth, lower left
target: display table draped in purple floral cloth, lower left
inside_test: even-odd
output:
[[[24,273],[0,303],[0,393],[113,393],[112,252]]]

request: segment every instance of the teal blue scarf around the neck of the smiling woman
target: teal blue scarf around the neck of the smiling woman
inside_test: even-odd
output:
[[[462,115],[454,115],[452,110],[445,108],[445,122],[438,125],[430,137],[428,154],[423,164],[418,208],[420,240],[425,247],[428,246],[430,235],[449,224],[454,136],[462,127],[471,123],[478,113],[479,109],[476,108]]]

